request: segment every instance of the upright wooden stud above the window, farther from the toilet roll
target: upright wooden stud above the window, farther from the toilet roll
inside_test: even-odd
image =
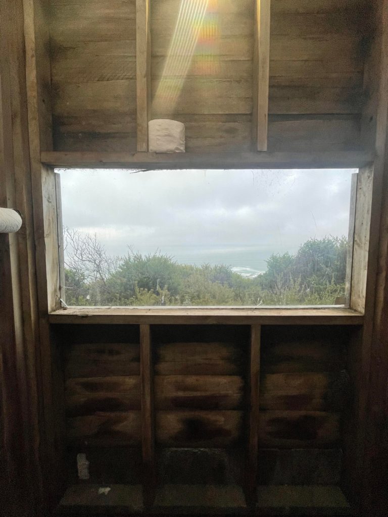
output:
[[[271,0],[256,0],[255,47],[253,49],[252,134],[254,149],[258,151],[267,150],[270,18]]]

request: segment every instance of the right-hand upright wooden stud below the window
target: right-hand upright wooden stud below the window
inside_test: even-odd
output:
[[[260,391],[260,325],[250,328],[249,363],[249,437],[247,462],[247,499],[248,505],[256,503],[257,466],[259,441],[259,391]]]

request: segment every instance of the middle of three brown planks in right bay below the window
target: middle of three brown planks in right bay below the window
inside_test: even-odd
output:
[[[339,411],[349,402],[349,384],[350,377],[344,370],[266,373],[260,386],[260,409]]]

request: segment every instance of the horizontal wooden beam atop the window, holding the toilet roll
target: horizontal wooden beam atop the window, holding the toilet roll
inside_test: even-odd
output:
[[[41,161],[65,169],[351,169],[372,163],[374,153],[97,153],[48,151]]]

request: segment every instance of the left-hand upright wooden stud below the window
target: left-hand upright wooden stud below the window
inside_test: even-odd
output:
[[[151,507],[154,500],[155,474],[155,419],[154,387],[150,325],[140,325],[141,421],[143,450],[144,504]]]

